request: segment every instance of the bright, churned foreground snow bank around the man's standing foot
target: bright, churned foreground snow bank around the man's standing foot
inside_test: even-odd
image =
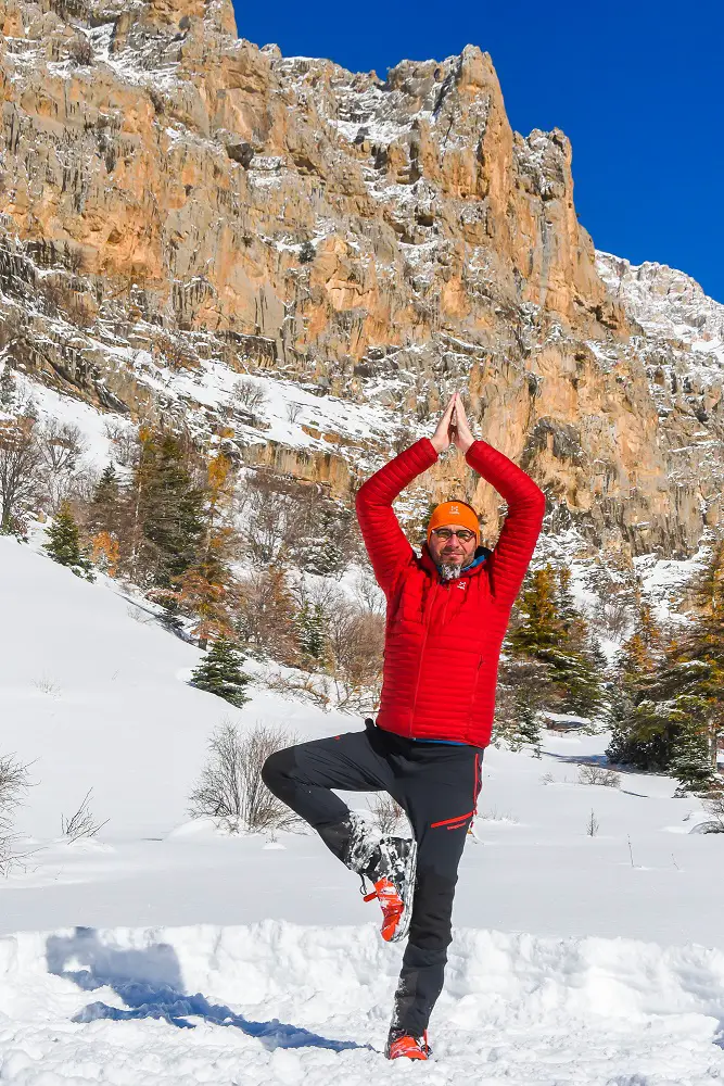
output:
[[[345,1086],[383,1062],[399,950],[366,927],[99,931],[0,942],[0,1082]],[[436,1086],[694,1084],[724,1075],[724,952],[458,932]]]

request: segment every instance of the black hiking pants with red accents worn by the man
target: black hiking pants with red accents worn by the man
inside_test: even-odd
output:
[[[346,842],[326,834],[350,816],[332,788],[388,792],[417,839],[417,881],[392,1028],[419,1037],[442,992],[457,871],[480,792],[479,747],[419,743],[377,728],[301,743],[267,759],[267,787],[320,833],[342,859]]]

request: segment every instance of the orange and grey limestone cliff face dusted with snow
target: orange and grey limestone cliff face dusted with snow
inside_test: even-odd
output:
[[[0,31],[0,313],[30,377],[339,494],[467,388],[551,530],[625,563],[716,526],[724,308],[597,264],[568,139],[511,130],[487,54],[383,83],[239,39],[230,0],[2,0]],[[234,414],[233,371],[285,426]],[[458,458],[425,485],[494,533]]]

